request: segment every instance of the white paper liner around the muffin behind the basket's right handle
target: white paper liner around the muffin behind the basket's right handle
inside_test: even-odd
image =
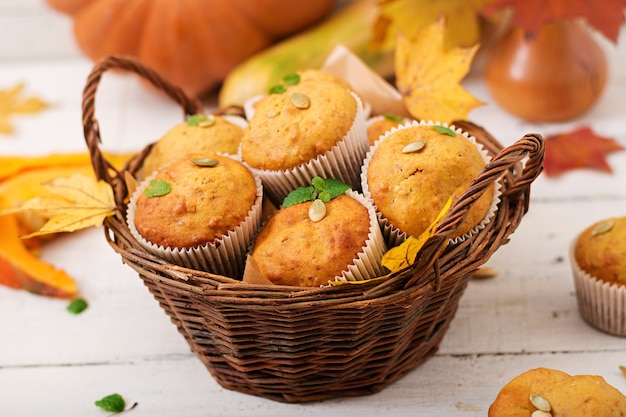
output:
[[[399,125],[398,127],[392,128],[390,131],[388,131],[387,133],[382,135],[380,138],[378,138],[378,140],[374,143],[374,145],[367,152],[365,156],[365,160],[363,161],[363,165],[361,167],[361,187],[363,190],[363,195],[367,199],[372,201],[372,195],[370,193],[369,186],[367,183],[367,170],[369,168],[369,164],[372,159],[372,156],[374,155],[374,152],[376,152],[376,149],[378,149],[378,146],[380,145],[380,143],[383,140],[385,140],[385,138],[387,138],[389,135],[393,134],[394,132],[400,129],[406,129],[406,128],[415,127],[415,126],[436,126],[436,125],[448,127],[452,129],[456,134],[463,136],[465,139],[473,143],[478,149],[478,152],[482,156],[485,164],[491,161],[491,157],[489,156],[487,151],[484,149],[483,145],[478,143],[475,137],[470,136],[467,132],[464,132],[460,128],[456,128],[454,125],[448,125],[447,123],[433,122],[430,120],[427,122],[423,120],[421,121],[413,120],[409,123],[405,123],[405,124]],[[489,206],[489,209],[487,210],[487,213],[485,214],[483,219],[480,221],[480,223],[474,226],[474,228],[472,228],[469,232],[460,236],[455,236],[455,237],[450,238],[449,243],[457,244],[457,243],[464,242],[469,237],[473,236],[474,234],[484,229],[487,226],[487,224],[489,224],[489,222],[493,219],[493,217],[495,216],[498,210],[498,204],[500,203],[501,194],[502,194],[502,183],[500,182],[500,179],[498,179],[497,181],[494,182],[493,198],[491,199],[491,204]],[[385,238],[387,245],[390,248],[392,248],[404,242],[408,238],[408,235],[405,232],[401,231],[400,229],[391,225],[391,223],[387,221],[387,219],[382,215],[382,213],[378,211],[378,208],[376,207],[376,205],[374,205],[374,208],[376,209],[380,227],[383,231],[383,237]]]

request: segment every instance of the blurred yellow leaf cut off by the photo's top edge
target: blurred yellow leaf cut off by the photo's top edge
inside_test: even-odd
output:
[[[396,42],[396,33],[414,38],[440,18],[451,24],[444,29],[446,50],[469,47],[480,40],[480,13],[493,0],[381,0],[374,22],[374,42],[384,48]]]

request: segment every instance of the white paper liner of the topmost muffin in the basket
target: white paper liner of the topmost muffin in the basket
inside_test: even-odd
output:
[[[280,206],[292,190],[310,185],[311,179],[318,176],[342,181],[357,191],[361,189],[361,164],[369,149],[369,142],[361,99],[356,94],[351,94],[357,102],[352,126],[326,153],[294,168],[280,171],[255,169],[247,165],[261,178],[264,192],[274,205]]]

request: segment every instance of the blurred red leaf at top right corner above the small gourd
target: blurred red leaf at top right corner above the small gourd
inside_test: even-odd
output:
[[[559,19],[583,18],[613,43],[624,23],[626,0],[495,0],[483,9],[485,16],[511,8],[513,24],[536,36],[547,23]]]

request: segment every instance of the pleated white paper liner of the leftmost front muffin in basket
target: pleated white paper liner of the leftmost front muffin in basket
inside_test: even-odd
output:
[[[230,156],[230,155],[225,155]],[[233,159],[239,160],[234,157]],[[135,227],[137,199],[154,179],[156,173],[139,184],[132,194],[126,211],[126,223],[132,236],[151,254],[166,261],[191,269],[206,271],[231,278],[243,275],[245,256],[252,239],[261,225],[263,186],[255,177],[256,198],[245,219],[233,230],[216,239],[193,248],[170,248],[144,239]],[[167,227],[167,225],[164,225]]]

